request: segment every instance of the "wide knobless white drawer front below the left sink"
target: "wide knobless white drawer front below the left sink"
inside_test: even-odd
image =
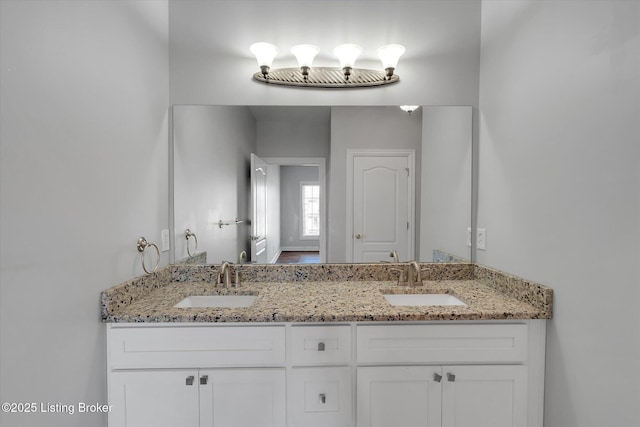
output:
[[[282,366],[284,326],[111,327],[111,369]]]

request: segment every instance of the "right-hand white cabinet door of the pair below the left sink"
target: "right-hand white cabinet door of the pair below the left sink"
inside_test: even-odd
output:
[[[283,427],[284,369],[200,371],[201,427]]]

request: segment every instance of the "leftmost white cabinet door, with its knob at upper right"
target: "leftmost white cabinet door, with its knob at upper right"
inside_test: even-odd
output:
[[[197,371],[113,372],[109,427],[198,427]]]

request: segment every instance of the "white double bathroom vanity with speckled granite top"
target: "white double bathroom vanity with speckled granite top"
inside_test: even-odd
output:
[[[237,289],[172,266],[105,291],[109,426],[542,426],[551,289],[424,266],[412,288],[383,280],[394,264],[246,266]],[[256,298],[174,307],[190,295]]]

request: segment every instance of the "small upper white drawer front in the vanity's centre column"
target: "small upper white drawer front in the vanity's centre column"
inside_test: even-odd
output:
[[[346,365],[351,362],[351,327],[293,326],[291,360],[294,365]]]

